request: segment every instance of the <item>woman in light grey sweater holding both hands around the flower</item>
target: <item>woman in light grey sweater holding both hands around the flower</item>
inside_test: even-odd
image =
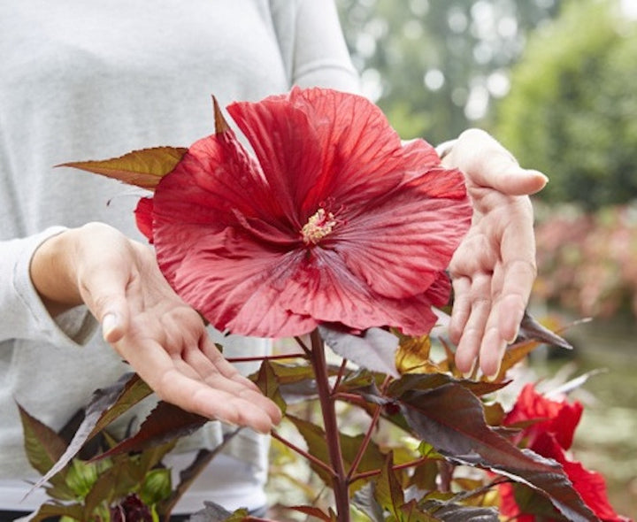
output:
[[[325,1],[20,0],[5,6],[0,35],[0,510],[12,519],[44,499],[36,492],[21,502],[35,472],[15,401],[59,428],[127,371],[122,359],[189,411],[262,433],[280,419],[219,356],[219,334],[206,334],[137,242],[136,198],[51,165],[188,146],[212,132],[211,94],[225,106],[294,84],[356,90],[357,75]],[[475,207],[451,265],[457,365],[469,372],[480,360],[494,374],[533,281],[533,214],[518,195],[546,179],[478,131],[464,133],[445,163],[464,170]],[[257,339],[224,345],[226,356],[268,349]],[[171,464],[216,446],[222,431],[209,423]],[[266,453],[263,435],[242,430],[175,512],[203,500],[259,510]]]

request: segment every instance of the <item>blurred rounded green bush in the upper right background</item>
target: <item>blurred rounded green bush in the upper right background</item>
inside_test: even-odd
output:
[[[578,0],[528,43],[495,134],[549,174],[541,199],[626,203],[637,197],[635,92],[637,23],[615,2]]]

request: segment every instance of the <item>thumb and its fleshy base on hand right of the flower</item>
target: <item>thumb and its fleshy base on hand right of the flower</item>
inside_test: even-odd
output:
[[[520,167],[508,150],[479,129],[460,134],[448,158],[446,163],[462,170],[472,185],[509,196],[534,194],[549,181],[539,171]]]

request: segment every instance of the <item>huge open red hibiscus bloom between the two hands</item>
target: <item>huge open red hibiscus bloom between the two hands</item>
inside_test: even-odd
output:
[[[237,334],[428,332],[472,215],[462,173],[361,96],[295,88],[227,111],[256,158],[217,111],[137,209],[180,296]]]

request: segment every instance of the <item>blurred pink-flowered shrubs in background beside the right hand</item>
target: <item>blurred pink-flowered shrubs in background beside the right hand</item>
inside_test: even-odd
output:
[[[637,207],[538,207],[533,297],[583,316],[637,317]]]

